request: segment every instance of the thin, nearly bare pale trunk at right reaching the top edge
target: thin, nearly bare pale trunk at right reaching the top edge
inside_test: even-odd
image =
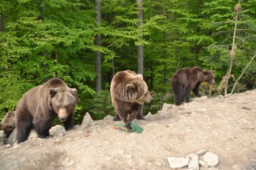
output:
[[[238,5],[240,6],[240,1],[238,1]],[[235,35],[236,35],[236,30],[237,30],[237,25],[238,25],[238,13],[240,7],[235,6],[235,28],[234,28],[234,33],[233,33],[233,43],[232,43],[232,49],[230,51],[230,64],[228,67],[228,72],[226,75],[226,80],[225,80],[225,96],[228,94],[228,80],[230,79],[232,67],[234,64],[234,59],[235,59],[235,51],[237,46],[235,45]]]

